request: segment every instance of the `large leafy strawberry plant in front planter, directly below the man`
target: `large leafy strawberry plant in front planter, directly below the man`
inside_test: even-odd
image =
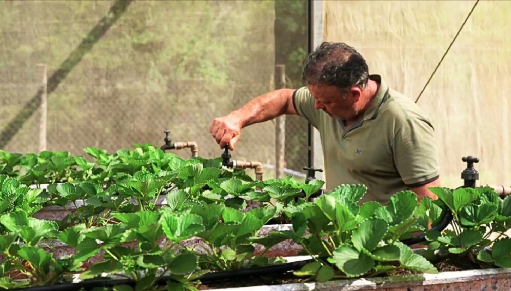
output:
[[[365,192],[363,185],[343,185],[314,202],[284,209],[292,218],[293,230],[269,237],[291,238],[303,246],[305,254],[315,256],[315,262],[296,271],[296,275],[326,281],[376,276],[398,269],[437,272],[425,258],[400,242],[412,229],[420,228],[417,196],[403,191],[392,196],[386,206],[377,202],[359,206]]]

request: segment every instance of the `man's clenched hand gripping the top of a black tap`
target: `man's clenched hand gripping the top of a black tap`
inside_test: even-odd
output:
[[[240,140],[241,128],[241,119],[231,113],[224,117],[215,118],[209,126],[209,132],[211,132],[221,149],[229,145],[230,150],[234,150],[234,146]]]

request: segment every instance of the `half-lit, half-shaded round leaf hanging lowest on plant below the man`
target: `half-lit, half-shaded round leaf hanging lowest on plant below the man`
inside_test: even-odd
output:
[[[348,277],[364,275],[375,265],[375,261],[349,245],[343,245],[333,251],[333,259],[339,269]]]

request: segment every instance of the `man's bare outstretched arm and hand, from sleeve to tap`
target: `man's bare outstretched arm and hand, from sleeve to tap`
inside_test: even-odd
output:
[[[298,115],[293,106],[294,89],[279,89],[257,96],[242,108],[224,117],[215,118],[209,127],[213,138],[231,150],[240,140],[241,129],[254,123],[265,122],[283,114]]]

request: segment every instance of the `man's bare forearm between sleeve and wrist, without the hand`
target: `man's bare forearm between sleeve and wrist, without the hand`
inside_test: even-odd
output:
[[[292,89],[279,89],[257,96],[231,112],[242,121],[242,127],[265,122],[283,114],[296,114],[292,105]]]

